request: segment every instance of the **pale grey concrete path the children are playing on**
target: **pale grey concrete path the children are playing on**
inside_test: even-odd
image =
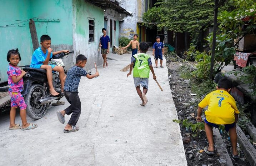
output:
[[[164,91],[150,74],[149,102],[142,107],[132,75],[127,78],[127,72],[120,71],[130,63],[130,56],[109,54],[117,61],[108,60],[106,68],[99,66],[99,77],[82,77],[77,132],[63,133],[69,116],[64,125],[57,120],[56,111],[69,106],[67,102],[51,106],[35,121],[38,127],[34,130],[8,130],[9,117],[0,117],[0,165],[186,166],[180,128],[172,122],[177,114],[165,62],[164,69],[155,70]],[[16,123],[20,122],[17,115]]]

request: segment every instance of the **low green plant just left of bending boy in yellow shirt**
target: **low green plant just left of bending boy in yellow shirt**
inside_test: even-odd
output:
[[[188,119],[185,119],[185,120],[174,119],[172,121],[176,123],[182,122],[182,127],[186,127],[186,130],[190,129],[192,132],[195,133],[195,134],[192,134],[193,137],[197,137],[199,132],[205,129],[205,124],[203,122],[196,122],[195,124],[193,124]]]

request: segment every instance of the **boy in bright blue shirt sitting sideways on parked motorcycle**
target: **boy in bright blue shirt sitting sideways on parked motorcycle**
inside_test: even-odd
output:
[[[61,83],[61,92],[63,92],[64,88],[64,69],[61,66],[56,65],[49,65],[49,60],[53,55],[59,54],[61,52],[69,53],[68,50],[61,50],[57,52],[52,52],[51,49],[51,37],[48,35],[42,35],[40,37],[40,44],[41,47],[38,47],[32,55],[32,60],[30,67],[37,68],[37,69],[45,69],[46,70],[46,76],[49,84],[49,90],[50,94],[52,96],[59,95],[58,92],[55,91],[53,85],[52,85],[52,70],[59,72],[60,77],[60,83]]]

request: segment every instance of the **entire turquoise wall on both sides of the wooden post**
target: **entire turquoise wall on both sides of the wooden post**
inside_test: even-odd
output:
[[[72,49],[72,0],[0,0],[0,4],[0,26],[9,24],[16,26],[0,27],[0,82],[7,80],[6,55],[10,49],[19,48],[22,59],[19,63],[20,66],[30,64],[33,46],[29,19],[32,17],[46,20],[60,19],[60,22],[48,22],[48,24],[47,22],[35,22],[38,40],[41,35],[48,34],[51,36],[54,51]],[[24,22],[10,20],[23,20]],[[69,66],[73,65],[72,59],[66,61],[71,61]]]

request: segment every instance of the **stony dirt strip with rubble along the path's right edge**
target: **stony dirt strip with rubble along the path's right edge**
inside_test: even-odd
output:
[[[191,91],[191,83],[186,83],[186,80],[181,78],[179,68],[181,66],[195,66],[195,62],[187,62],[187,61],[174,61],[174,57],[171,59],[166,57],[166,65],[169,72],[169,83],[172,90],[172,96],[174,99],[175,107],[177,110],[177,114],[179,120],[189,119],[190,122],[196,124],[196,116],[197,116],[197,104],[200,102],[200,98],[202,99],[204,96],[192,96],[194,94]],[[190,80],[189,80],[190,81]],[[198,87],[200,88],[200,87]],[[181,128],[181,135],[183,137],[188,137],[190,134],[194,134],[191,130],[186,130],[185,127]],[[190,134],[189,134],[190,133]],[[224,143],[227,145],[227,150],[230,155],[231,144],[229,141],[229,136],[226,131],[221,131],[222,139]],[[207,138],[205,135],[205,131],[200,131],[196,137],[190,136],[191,141],[187,144],[184,144],[184,149],[186,153],[187,165],[188,166],[224,166],[226,164],[221,163],[219,160],[219,154],[215,150],[214,156],[209,156],[205,152],[199,152],[203,150],[204,147],[208,146]],[[191,155],[192,154],[192,155]],[[249,166],[250,164],[246,161],[244,155],[240,154],[241,159],[233,159],[231,158],[234,166]],[[225,161],[224,161],[225,162]]]

